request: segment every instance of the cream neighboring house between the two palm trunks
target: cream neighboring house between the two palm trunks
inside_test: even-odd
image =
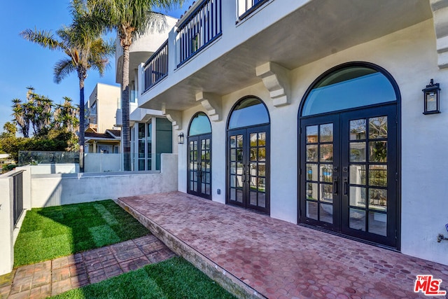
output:
[[[97,83],[85,103],[85,153],[120,153],[116,111],[120,87]]]

